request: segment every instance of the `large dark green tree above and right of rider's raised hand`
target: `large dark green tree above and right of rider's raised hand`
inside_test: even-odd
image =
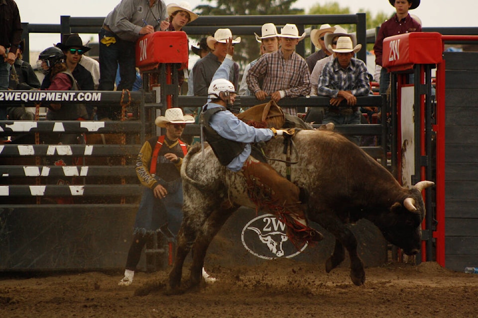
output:
[[[304,9],[293,8],[292,5],[297,0],[206,0],[207,2],[215,2],[216,6],[210,4],[201,4],[196,6],[194,12],[205,15],[281,15],[281,14],[304,14]],[[284,24],[287,21],[284,21]],[[260,33],[260,29],[258,30]],[[280,32],[280,29],[278,29]],[[214,35],[214,34],[211,34]],[[234,60],[243,70],[245,65],[259,56],[259,43],[255,40],[253,34],[241,35],[241,42],[236,45]]]

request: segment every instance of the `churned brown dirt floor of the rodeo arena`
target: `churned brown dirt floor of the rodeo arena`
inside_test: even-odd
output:
[[[167,271],[56,274],[0,279],[0,317],[477,317],[478,275],[434,262],[367,268],[357,287],[340,267],[280,259],[258,266],[211,267],[219,280],[197,292],[166,296]],[[185,270],[185,276],[187,275]],[[137,296],[144,295],[144,296]]]

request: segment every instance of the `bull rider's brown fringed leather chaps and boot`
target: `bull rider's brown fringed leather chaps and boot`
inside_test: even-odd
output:
[[[268,163],[249,156],[240,171],[247,182],[247,194],[259,210],[277,215],[287,226],[287,236],[297,247],[317,242],[323,235],[307,225],[299,199],[300,189]]]

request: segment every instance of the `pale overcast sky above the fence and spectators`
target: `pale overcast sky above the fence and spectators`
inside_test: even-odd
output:
[[[20,10],[22,22],[29,23],[45,23],[56,24],[60,23],[61,15],[70,15],[73,17],[104,17],[106,16],[118,3],[119,0],[81,0],[75,2],[78,4],[74,6],[71,1],[59,0],[15,0]],[[146,1],[146,0],[145,0]],[[166,4],[179,1],[165,0]],[[333,0],[297,0],[294,7],[305,9],[306,13],[311,6],[320,3],[324,5],[327,2],[334,2]],[[388,0],[338,0],[341,7],[349,7],[352,13],[359,12],[360,8],[370,10],[373,14],[377,12],[384,12],[392,14],[394,8],[390,5]],[[208,3],[201,0],[189,0],[189,3],[194,8],[201,3]],[[457,5],[455,5],[457,3]],[[459,4],[459,5],[458,5]],[[416,14],[422,20],[423,26],[426,27],[460,27],[460,26],[478,26],[477,19],[477,2],[472,0],[458,0],[457,2],[450,0],[422,0],[421,4],[411,12]],[[284,21],[287,23],[287,21]],[[92,35],[94,41],[98,41],[98,35]],[[87,42],[89,38],[82,36],[83,41]],[[30,36],[30,50],[41,51],[53,43],[60,41],[60,35],[31,35]]]

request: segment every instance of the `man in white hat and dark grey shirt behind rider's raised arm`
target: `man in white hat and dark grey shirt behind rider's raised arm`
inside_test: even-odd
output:
[[[217,29],[213,36],[208,36],[206,42],[211,53],[199,60],[193,68],[194,95],[206,96],[214,73],[221,66],[227,55],[227,40],[233,38],[230,29]],[[240,37],[233,39],[233,44],[240,42]],[[229,80],[237,88],[239,85],[239,65],[235,62],[229,75]]]

